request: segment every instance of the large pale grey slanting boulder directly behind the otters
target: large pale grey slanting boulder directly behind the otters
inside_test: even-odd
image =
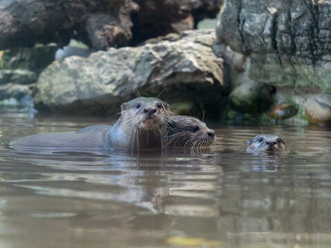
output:
[[[55,61],[39,76],[36,107],[105,114],[134,97],[137,89],[157,96],[166,88],[163,99],[188,99],[207,108],[228,90],[223,60],[212,52],[214,36],[212,30],[187,31],[175,41]]]

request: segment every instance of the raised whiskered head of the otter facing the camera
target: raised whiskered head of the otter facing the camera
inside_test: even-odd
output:
[[[126,130],[160,130],[170,116],[170,105],[152,97],[138,97],[121,105]]]

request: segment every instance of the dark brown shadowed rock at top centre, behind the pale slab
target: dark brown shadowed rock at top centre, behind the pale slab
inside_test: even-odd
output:
[[[132,16],[132,44],[171,32],[197,28],[204,19],[215,18],[223,0],[135,0],[139,12]]]

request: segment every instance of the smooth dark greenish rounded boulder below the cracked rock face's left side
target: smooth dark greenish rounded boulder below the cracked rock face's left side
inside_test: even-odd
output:
[[[236,87],[229,96],[230,107],[241,113],[257,114],[271,104],[274,88],[263,83],[248,81]]]

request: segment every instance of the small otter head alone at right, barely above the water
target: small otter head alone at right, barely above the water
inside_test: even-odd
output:
[[[288,148],[277,135],[259,134],[247,141],[246,152],[288,152]]]

